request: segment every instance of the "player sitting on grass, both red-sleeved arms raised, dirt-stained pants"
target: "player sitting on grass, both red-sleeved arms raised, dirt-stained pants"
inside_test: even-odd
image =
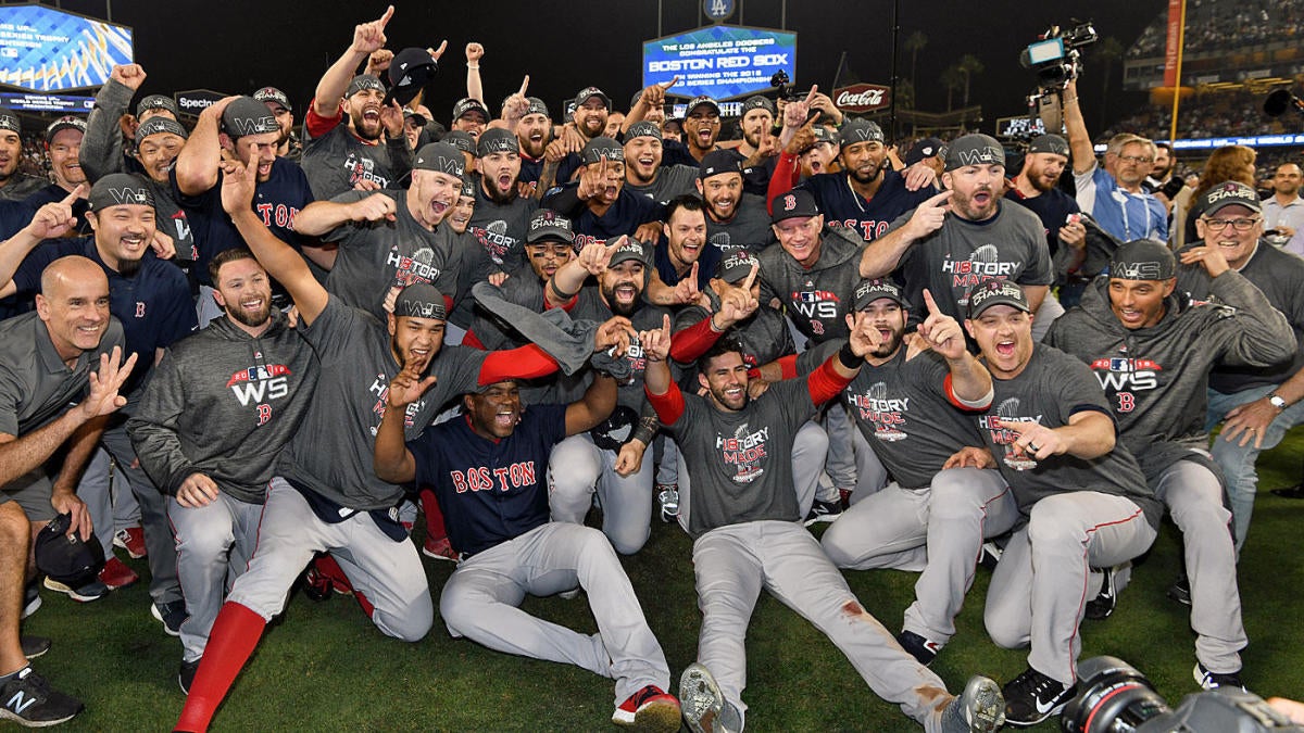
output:
[[[811,374],[777,382],[751,399],[737,346],[719,342],[698,361],[705,396],[686,396],[670,377],[670,317],[639,334],[648,359],[645,391],[675,436],[690,493],[702,630],[698,661],[679,680],[689,728],[742,730],[747,706],[746,638],[762,587],[829,635],[870,687],[930,732],[995,730],[1003,702],[985,677],[952,698],[936,674],[897,646],[852,593],[819,543],[797,522],[792,449],[798,428],[855,377],[879,346],[865,316],[848,343]],[[685,476],[681,477],[683,480]]]

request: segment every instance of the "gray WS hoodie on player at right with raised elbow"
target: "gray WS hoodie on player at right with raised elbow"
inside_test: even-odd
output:
[[[1217,304],[1172,295],[1158,323],[1136,330],[1110,309],[1108,287],[1107,278],[1097,278],[1081,305],[1055,321],[1046,343],[1091,368],[1123,445],[1142,468],[1171,464],[1189,449],[1208,450],[1205,389],[1215,364],[1267,366],[1295,353],[1286,317],[1235,270],[1210,280]]]

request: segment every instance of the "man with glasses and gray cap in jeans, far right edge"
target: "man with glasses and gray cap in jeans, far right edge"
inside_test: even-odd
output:
[[[1254,189],[1227,181],[1208,190],[1200,201],[1204,214],[1196,231],[1204,240],[1179,252],[1178,290],[1196,300],[1210,300],[1211,278],[1189,252],[1217,248],[1227,265],[1264,291],[1295,331],[1304,334],[1304,261],[1261,245],[1262,203]],[[1236,550],[1245,544],[1254,509],[1258,475],[1254,462],[1262,450],[1282,441],[1286,430],[1304,421],[1304,351],[1299,346],[1290,361],[1270,368],[1217,366],[1209,374],[1208,428],[1223,423],[1213,441],[1213,458],[1222,468],[1231,498]]]

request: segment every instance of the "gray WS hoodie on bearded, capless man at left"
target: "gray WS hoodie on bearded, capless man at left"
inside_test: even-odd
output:
[[[230,318],[172,344],[126,423],[136,455],[176,496],[206,473],[232,497],[262,503],[280,449],[297,432],[317,386],[312,347],[273,310],[258,338]]]

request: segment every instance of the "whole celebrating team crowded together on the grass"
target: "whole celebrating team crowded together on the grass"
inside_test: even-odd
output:
[[[263,87],[192,128],[116,67],[39,136],[48,177],[0,111],[0,716],[81,711],[20,622],[141,582],[119,546],[180,640],[179,730],[300,578],[387,636],[438,609],[589,669],[614,724],[668,732],[743,728],[764,587],[926,730],[1034,725],[1164,513],[1196,689],[1253,685],[1254,462],[1304,420],[1297,166],[1265,201],[1253,151],[1194,187],[1137,134],[1097,159],[1073,83],[1017,170],[979,133],[892,149],[816,89],[746,99],[735,141],[709,98],[666,119],[673,83],[492,104],[479,43],[449,104],[421,87],[455,53],[386,48],[393,13],[306,103]],[[657,518],[703,613],[677,694],[619,562]],[[437,601],[422,556],[458,563]],[[979,561],[1028,669],[957,695],[928,665]],[[883,567],[919,573],[900,631],[842,575]],[[518,608],[582,590],[593,635]]]

